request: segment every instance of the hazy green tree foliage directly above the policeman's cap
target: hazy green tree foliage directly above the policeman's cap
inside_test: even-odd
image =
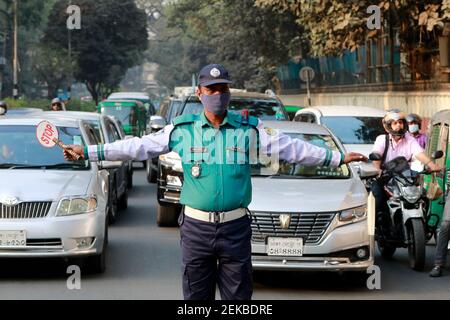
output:
[[[165,15],[167,28],[158,40],[166,35],[168,41],[152,58],[159,58],[155,62],[170,83],[175,77],[190,83],[192,73],[216,62],[230,70],[235,87],[261,91],[273,86],[276,67],[302,45],[293,15],[258,8],[254,0],[180,0],[167,6]]]

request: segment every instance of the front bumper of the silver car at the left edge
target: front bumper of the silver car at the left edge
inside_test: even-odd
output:
[[[26,231],[26,246],[0,247],[0,258],[69,258],[102,253],[105,214],[0,220],[0,230]],[[90,238],[90,245],[78,246],[77,239]]]

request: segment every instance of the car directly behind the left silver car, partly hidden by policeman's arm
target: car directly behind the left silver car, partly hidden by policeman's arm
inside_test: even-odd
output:
[[[123,140],[125,137],[121,134],[119,124],[114,117],[100,115],[92,112],[45,112],[43,116],[53,119],[64,116],[84,120],[91,126],[92,134],[100,144],[113,143]],[[108,169],[109,190],[108,190],[108,220],[113,224],[116,222],[119,209],[124,210],[128,207],[128,189],[132,184],[133,163],[132,161],[116,161],[116,166]]]

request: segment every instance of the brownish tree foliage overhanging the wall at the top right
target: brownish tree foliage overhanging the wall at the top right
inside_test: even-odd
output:
[[[384,21],[400,29],[400,39],[413,47],[436,46],[443,22],[450,19],[450,0],[255,0],[275,12],[289,12],[305,27],[313,56],[354,50],[378,30],[366,26],[367,8],[377,5]],[[409,48],[411,49],[411,48]]]

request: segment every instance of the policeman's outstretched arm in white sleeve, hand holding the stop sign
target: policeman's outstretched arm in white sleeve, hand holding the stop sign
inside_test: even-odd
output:
[[[169,139],[173,130],[173,125],[168,125],[161,131],[133,139],[116,141],[104,145],[80,146],[69,145],[75,153],[83,159],[91,161],[102,160],[136,160],[144,161],[169,152]],[[67,151],[64,151],[64,158],[75,161]]]

